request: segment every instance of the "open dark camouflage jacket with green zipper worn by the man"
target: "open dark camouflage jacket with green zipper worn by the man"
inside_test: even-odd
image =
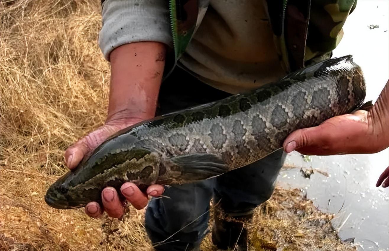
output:
[[[357,4],[357,0],[263,1],[287,72],[330,58],[343,37],[343,24]],[[185,52],[208,5],[209,0],[169,0],[174,48],[166,58],[165,76]]]

